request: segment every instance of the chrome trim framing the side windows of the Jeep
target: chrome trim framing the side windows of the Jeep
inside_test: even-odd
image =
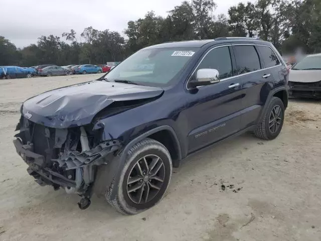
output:
[[[199,67],[199,65],[202,63],[202,61],[204,60],[204,58],[207,56],[207,54],[209,52],[211,52],[213,49],[217,49],[217,48],[221,48],[221,47],[229,47],[229,46],[263,46],[263,47],[269,47],[273,53],[275,54],[275,56],[277,57],[277,59],[279,60],[280,64],[278,65],[275,65],[275,66],[272,66],[272,67],[268,67],[268,68],[264,68],[264,69],[258,69],[258,70],[254,70],[254,71],[251,71],[251,72],[247,72],[247,73],[244,73],[244,74],[239,74],[239,75],[235,75],[235,76],[232,76],[232,77],[228,77],[228,78],[224,78],[224,79],[221,79],[220,82],[222,81],[225,81],[225,80],[229,80],[229,79],[234,79],[234,78],[237,78],[239,76],[244,76],[244,75],[247,75],[247,74],[251,74],[251,73],[255,73],[255,72],[259,72],[259,71],[262,71],[262,70],[266,70],[266,69],[271,69],[271,68],[275,68],[275,67],[279,67],[282,65],[283,61],[280,61],[280,58],[279,56],[275,53],[275,51],[268,45],[262,45],[262,44],[229,44],[229,45],[221,45],[221,46],[216,46],[212,49],[210,49],[204,56],[203,58],[201,59],[200,63],[196,66],[195,70],[193,71],[192,75],[190,76],[190,78],[188,79],[188,81],[186,82],[186,89],[187,90],[191,90],[187,87],[189,81],[191,80],[192,76],[194,75],[195,71],[197,70],[197,68]],[[232,61],[232,59],[231,59]],[[283,63],[284,64],[284,63]],[[233,66],[232,66],[233,68]],[[218,82],[218,84],[220,83]],[[199,86],[198,88],[201,88],[201,87],[204,87],[204,86],[208,86],[208,85],[202,85],[202,86]]]

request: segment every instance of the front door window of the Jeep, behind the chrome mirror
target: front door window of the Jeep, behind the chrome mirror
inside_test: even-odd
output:
[[[220,73],[220,79],[232,77],[233,70],[229,48],[219,47],[210,50],[198,66],[197,70],[199,69],[217,69]],[[194,78],[196,78],[196,72]]]

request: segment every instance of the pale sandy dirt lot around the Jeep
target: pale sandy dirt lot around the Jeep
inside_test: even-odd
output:
[[[290,100],[274,141],[246,134],[189,158],[135,216],[40,187],[12,144],[21,102],[97,76],[0,80],[0,240],[321,240],[321,101]]]

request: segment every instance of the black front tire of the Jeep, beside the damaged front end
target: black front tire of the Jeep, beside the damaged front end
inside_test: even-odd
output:
[[[149,156],[154,156],[154,155],[160,158],[158,159],[160,162],[156,161],[156,164],[154,164],[153,166],[152,164],[154,162],[154,159],[148,160],[148,158]],[[146,161],[144,162],[141,160],[146,160]],[[133,182],[132,186],[131,184],[128,184],[127,182],[130,181],[129,178],[131,179],[136,178],[136,177],[132,178],[130,177],[130,175],[132,175],[133,172],[138,173],[138,171],[136,171],[137,170],[136,167],[138,163],[141,164],[141,168],[139,168],[140,172],[146,171],[147,169],[145,169],[145,167],[150,168],[149,171],[147,170],[147,173],[146,173],[148,176],[150,175],[150,170],[156,170],[157,167],[160,166],[158,170],[161,170],[164,173],[164,175],[162,175],[163,181],[161,182],[158,180],[152,180],[152,179],[155,179],[155,177],[152,178],[153,175],[150,175],[150,179],[147,178],[148,181],[145,180],[145,177],[146,177],[145,176],[143,179],[140,179],[137,182]],[[154,169],[152,167],[154,167]],[[156,172],[155,175],[159,173],[157,170],[155,172]],[[135,145],[133,145],[132,148],[128,151],[126,160],[125,160],[125,165],[121,171],[120,178],[117,183],[118,185],[115,185],[115,179],[114,179],[111,185],[107,187],[105,190],[105,198],[107,202],[113,208],[115,208],[118,212],[122,214],[131,214],[131,215],[137,214],[148,208],[151,208],[152,206],[156,205],[159,201],[161,201],[170,184],[171,176],[172,176],[172,159],[169,151],[166,149],[166,147],[163,144],[153,139],[146,138],[136,143]],[[150,184],[149,182],[153,182],[153,183]],[[137,185],[141,185],[141,188],[137,189],[136,191],[130,192],[130,189]],[[153,185],[153,186],[150,186],[150,185]],[[157,188],[159,188],[157,190],[153,189],[153,187],[156,185],[158,185]],[[114,186],[116,187],[118,186],[118,189],[116,191],[115,198],[111,200],[110,195]],[[140,199],[138,203],[134,202],[133,196],[137,195],[136,197],[139,198],[140,190],[142,190]],[[148,196],[148,194],[151,194],[151,195]],[[148,197],[150,198],[149,200],[147,200]],[[142,200],[144,203],[139,203],[140,200]]]

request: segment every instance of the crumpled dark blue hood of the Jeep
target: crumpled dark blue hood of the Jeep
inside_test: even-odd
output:
[[[91,81],[50,90],[27,99],[22,114],[30,121],[47,127],[83,126],[114,101],[152,98],[163,91],[158,87]]]

